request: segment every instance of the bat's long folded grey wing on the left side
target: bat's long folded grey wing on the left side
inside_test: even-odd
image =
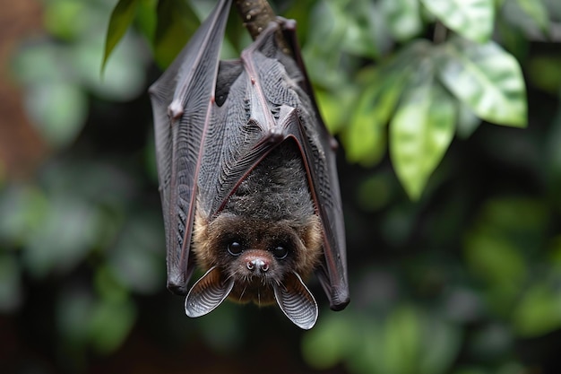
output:
[[[168,288],[186,294],[196,181],[211,124],[220,46],[230,0],[220,0],[172,65],[150,88],[160,196],[168,249]]]

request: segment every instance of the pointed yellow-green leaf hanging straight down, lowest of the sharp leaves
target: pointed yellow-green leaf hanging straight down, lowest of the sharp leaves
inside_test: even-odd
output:
[[[435,82],[433,68],[429,59],[418,65],[390,123],[393,166],[411,199],[419,198],[453,138],[455,102]]]

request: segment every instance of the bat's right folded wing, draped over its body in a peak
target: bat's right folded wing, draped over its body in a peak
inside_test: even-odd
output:
[[[285,33],[294,34],[293,22],[281,24]],[[349,303],[349,289],[336,143],[315,105],[298,46],[290,44],[293,57],[289,57],[276,44],[279,27],[272,23],[263,30],[243,51],[241,62],[220,64],[217,90],[223,85],[228,92],[212,109],[212,136],[206,138],[201,167],[202,205],[208,216],[219,213],[240,181],[269,152],[285,141],[298,144],[324,230],[324,258],[317,274],[331,308],[339,310]],[[299,289],[306,292],[306,287]],[[313,315],[311,300],[307,295],[300,299]]]

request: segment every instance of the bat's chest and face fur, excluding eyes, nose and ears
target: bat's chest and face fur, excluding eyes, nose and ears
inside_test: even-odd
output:
[[[228,252],[232,241],[247,250],[239,256]],[[194,255],[204,268],[218,265],[223,278],[234,277],[231,300],[274,302],[272,283],[285,274],[307,276],[322,254],[322,231],[307,187],[306,170],[297,146],[285,142],[267,156],[240,184],[222,212],[211,222],[197,215]],[[271,249],[289,249],[276,259]],[[246,268],[246,252],[263,257],[271,268],[254,274]]]

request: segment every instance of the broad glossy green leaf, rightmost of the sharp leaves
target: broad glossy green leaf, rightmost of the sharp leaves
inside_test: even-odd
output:
[[[526,90],[518,62],[495,42],[453,38],[439,53],[446,88],[479,117],[497,125],[524,127]]]

